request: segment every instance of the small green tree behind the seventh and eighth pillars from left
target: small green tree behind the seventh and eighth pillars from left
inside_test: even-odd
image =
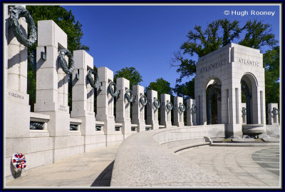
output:
[[[157,97],[160,99],[161,94],[172,95],[172,88],[170,87],[170,82],[165,79],[157,79],[155,82],[150,82],[150,85],[145,88],[145,90],[157,91]]]

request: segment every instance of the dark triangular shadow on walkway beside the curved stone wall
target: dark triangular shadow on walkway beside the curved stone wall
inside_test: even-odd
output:
[[[110,163],[91,184],[91,187],[110,186],[114,161]]]

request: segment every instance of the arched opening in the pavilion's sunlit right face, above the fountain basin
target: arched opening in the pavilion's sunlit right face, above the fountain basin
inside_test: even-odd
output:
[[[246,116],[247,124],[258,123],[258,116],[254,115],[254,111],[257,111],[257,81],[252,74],[245,74],[240,83],[242,103],[245,103],[242,113]]]

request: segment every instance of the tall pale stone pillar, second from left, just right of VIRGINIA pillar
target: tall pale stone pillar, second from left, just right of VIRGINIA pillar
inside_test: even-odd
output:
[[[55,22],[38,21],[35,112],[51,117],[48,131],[53,138],[53,162],[84,151],[81,132],[70,131],[68,75],[57,62],[58,51],[66,47],[67,35]],[[46,61],[41,59],[42,51],[46,51]]]

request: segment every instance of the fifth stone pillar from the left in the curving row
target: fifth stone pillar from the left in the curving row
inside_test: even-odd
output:
[[[130,89],[130,81],[125,78],[117,79],[118,91],[120,91],[120,97],[116,102],[116,117],[117,123],[122,123],[122,133],[124,139],[132,134],[130,123],[130,102],[125,96],[125,91]]]

